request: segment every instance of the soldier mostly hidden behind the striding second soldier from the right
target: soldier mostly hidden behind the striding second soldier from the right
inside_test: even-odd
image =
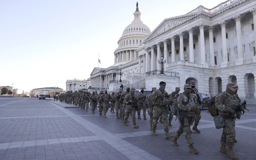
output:
[[[196,105],[198,106],[196,109],[196,120],[195,120],[195,125],[193,126],[193,130],[196,131],[197,133],[200,133],[200,131],[197,128],[197,125],[199,124],[199,121],[201,119],[201,110],[202,110],[202,106],[201,106],[201,100],[199,97],[199,92],[196,89],[196,83],[195,81],[190,81],[191,84],[191,93],[193,94],[193,96],[195,97],[196,100]]]

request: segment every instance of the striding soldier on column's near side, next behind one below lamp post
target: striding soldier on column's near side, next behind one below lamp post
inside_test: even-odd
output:
[[[138,108],[138,104],[135,98],[135,88],[131,89],[131,92],[125,95],[124,97],[124,103],[126,103],[126,113],[123,124],[127,126],[127,119],[129,118],[129,115],[132,113],[132,124],[134,128],[138,128],[139,126],[136,124],[136,108]]]

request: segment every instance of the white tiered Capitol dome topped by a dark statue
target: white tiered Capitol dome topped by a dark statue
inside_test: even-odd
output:
[[[123,31],[121,38],[118,40],[118,48],[115,50],[115,65],[122,65],[129,61],[138,59],[136,50],[147,35],[151,33],[147,25],[143,24],[140,19],[138,3],[136,11],[133,13],[134,20]]]

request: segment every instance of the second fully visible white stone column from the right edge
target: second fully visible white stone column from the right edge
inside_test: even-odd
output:
[[[221,68],[228,66],[228,52],[227,52],[227,38],[226,38],[226,22],[220,22],[221,26],[221,39],[222,39],[222,62]]]

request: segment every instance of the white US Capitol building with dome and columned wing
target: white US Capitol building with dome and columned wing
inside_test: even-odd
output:
[[[66,91],[84,85],[89,91],[126,87],[183,88],[193,80],[210,97],[237,83],[238,95],[255,102],[256,1],[229,0],[214,8],[198,6],[185,15],[166,18],[154,31],[143,24],[136,5],[134,20],[123,31],[114,52],[115,64],[95,67],[83,84],[67,80]]]

